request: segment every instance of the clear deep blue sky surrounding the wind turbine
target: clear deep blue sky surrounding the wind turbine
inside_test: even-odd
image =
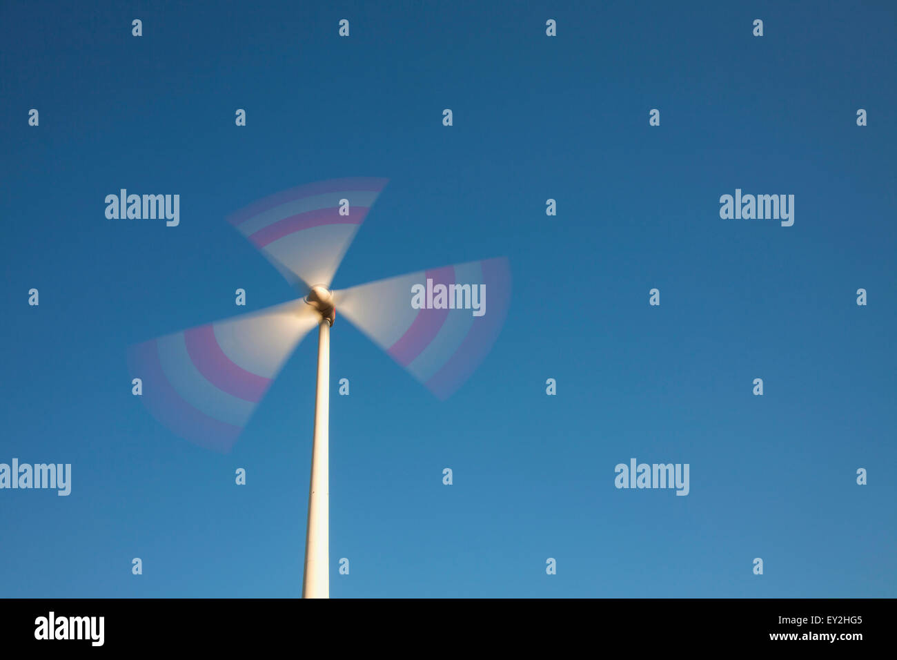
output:
[[[332,596],[897,595],[893,4],[427,5],[0,8],[0,462],[73,471],[0,491],[0,594],[300,593],[313,335],[228,455],[126,347],[290,299],[225,216],[370,176],[336,287],[504,255],[514,293],[446,402],[337,319]],[[179,226],[106,219],[120,188]],[[720,219],[736,188],[794,226]],[[631,457],[690,494],[614,488]]]

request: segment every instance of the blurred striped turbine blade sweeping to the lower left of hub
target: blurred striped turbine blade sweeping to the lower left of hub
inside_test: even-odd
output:
[[[178,436],[228,453],[300,339],[318,325],[303,300],[128,348],[144,405]]]

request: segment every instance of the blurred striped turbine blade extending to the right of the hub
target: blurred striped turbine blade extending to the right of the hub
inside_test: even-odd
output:
[[[422,285],[423,302],[433,307],[414,309],[415,285]],[[448,291],[442,300],[438,285]],[[353,286],[334,296],[337,318],[351,321],[444,400],[474,373],[498,337],[508,314],[510,269],[503,257],[471,261]],[[435,308],[443,302],[454,309]],[[482,315],[474,315],[474,304],[482,305]]]

